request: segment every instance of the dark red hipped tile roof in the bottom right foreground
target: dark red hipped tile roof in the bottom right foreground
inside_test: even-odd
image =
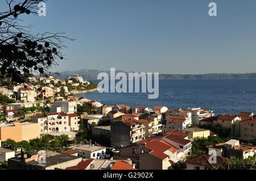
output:
[[[216,167],[216,166],[221,166],[225,163],[226,158],[223,157],[217,157],[217,163],[210,163],[209,162],[209,157],[210,155],[207,154],[202,154],[196,158],[193,158],[185,163],[189,163],[192,165],[200,165],[200,166],[208,166],[208,167]]]

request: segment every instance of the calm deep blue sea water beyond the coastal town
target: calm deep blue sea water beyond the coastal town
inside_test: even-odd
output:
[[[93,81],[98,82],[98,81]],[[238,113],[256,110],[256,79],[180,79],[160,80],[159,98],[148,99],[146,93],[79,94],[103,104],[169,109],[201,107],[218,113]]]

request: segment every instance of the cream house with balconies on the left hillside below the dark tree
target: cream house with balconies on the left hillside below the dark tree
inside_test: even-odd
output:
[[[18,90],[17,99],[20,100],[20,102],[27,103],[35,102],[36,92],[34,89],[30,87],[22,87]]]

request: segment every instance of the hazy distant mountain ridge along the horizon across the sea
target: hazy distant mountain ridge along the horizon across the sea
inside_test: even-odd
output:
[[[55,78],[67,79],[70,75],[79,74],[84,79],[97,79],[99,73],[105,72],[110,75],[110,70],[75,70],[75,71],[61,71],[59,75],[54,75]],[[125,71],[115,70],[115,73]],[[246,73],[246,74],[159,74],[160,79],[256,79],[256,73]]]

